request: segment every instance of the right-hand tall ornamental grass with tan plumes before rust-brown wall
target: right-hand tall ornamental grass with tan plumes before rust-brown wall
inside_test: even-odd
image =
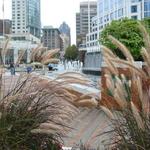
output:
[[[109,36],[112,43],[124,54],[120,59],[110,49],[102,46],[105,69],[106,89],[102,93],[102,110],[111,119],[111,130],[105,132],[110,137],[105,141],[106,149],[114,150],[148,150],[150,149],[150,36],[145,27],[139,24],[145,41],[141,50],[144,66],[136,65],[132,55],[125,45]],[[124,74],[121,69],[125,69]],[[107,102],[108,102],[107,101]]]

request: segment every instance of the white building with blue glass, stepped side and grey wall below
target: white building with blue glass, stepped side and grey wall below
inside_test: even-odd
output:
[[[86,51],[85,70],[93,70],[95,66],[95,70],[98,70],[101,67],[101,31],[112,20],[125,17],[137,20],[150,17],[150,0],[97,0],[97,16],[92,18],[91,32],[86,35],[86,48],[80,49]]]

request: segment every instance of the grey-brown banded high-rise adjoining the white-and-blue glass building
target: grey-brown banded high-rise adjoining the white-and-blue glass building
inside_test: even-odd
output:
[[[89,9],[88,9],[89,8]],[[97,14],[97,2],[80,3],[80,12],[76,13],[76,44],[85,44],[86,34],[89,32],[89,20]]]

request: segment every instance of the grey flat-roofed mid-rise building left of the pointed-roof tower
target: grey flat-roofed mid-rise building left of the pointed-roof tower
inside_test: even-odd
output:
[[[60,38],[60,31],[58,28],[53,28],[52,26],[45,26],[42,29],[43,36],[42,41],[44,47],[51,49],[60,49],[62,47],[62,40]]]

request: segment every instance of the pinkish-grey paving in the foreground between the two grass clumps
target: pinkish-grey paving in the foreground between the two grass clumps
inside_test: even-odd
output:
[[[101,110],[81,108],[80,113],[70,124],[74,130],[71,130],[68,137],[64,138],[65,146],[75,147],[84,143],[88,147],[103,150],[102,142],[108,137],[98,135],[109,130],[108,124],[109,119]]]

